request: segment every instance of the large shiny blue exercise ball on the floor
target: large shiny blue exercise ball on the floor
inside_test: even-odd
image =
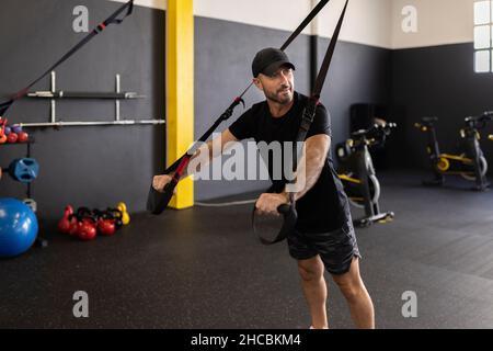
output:
[[[27,251],[36,240],[37,218],[22,201],[0,199],[0,258]]]

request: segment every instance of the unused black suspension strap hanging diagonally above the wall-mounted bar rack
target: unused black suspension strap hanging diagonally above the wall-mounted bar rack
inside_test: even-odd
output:
[[[104,22],[101,22],[91,33],[89,33],[82,41],[80,41],[76,46],[73,46],[67,54],[65,54],[55,65],[49,67],[39,78],[35,79],[31,84],[25,87],[24,89],[21,89],[15,94],[12,95],[12,98],[3,103],[0,103],[0,116],[4,116],[7,111],[12,106],[12,104],[25,97],[27,94],[27,91],[33,87],[35,83],[37,83],[39,80],[42,80],[46,75],[48,75],[51,70],[54,70],[56,67],[61,65],[64,61],[66,61],[70,56],[72,56],[76,52],[78,52],[82,46],[84,46],[90,39],[92,39],[94,36],[103,32],[106,26],[110,24],[119,24],[125,20],[126,16],[131,14],[131,11],[134,9],[134,0],[129,0],[127,3],[123,4],[118,10],[115,11],[111,16],[108,16]],[[127,12],[123,15],[123,18],[118,18],[122,12],[127,10]]]

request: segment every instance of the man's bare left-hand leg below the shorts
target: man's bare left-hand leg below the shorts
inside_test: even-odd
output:
[[[308,307],[311,325],[316,329],[329,328],[326,320],[326,284],[323,278],[323,262],[319,256],[308,260],[298,260],[298,271]]]

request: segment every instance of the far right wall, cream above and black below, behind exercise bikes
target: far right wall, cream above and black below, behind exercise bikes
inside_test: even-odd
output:
[[[394,120],[400,125],[392,162],[428,167],[425,135],[413,127],[422,116],[437,116],[443,151],[452,151],[463,118],[493,109],[493,73],[475,73],[473,59],[473,0],[392,1],[392,89]],[[404,33],[401,11],[417,10],[417,32]],[[493,161],[489,126],[481,146]],[[399,156],[401,155],[401,156]],[[405,155],[405,157],[402,157]]]

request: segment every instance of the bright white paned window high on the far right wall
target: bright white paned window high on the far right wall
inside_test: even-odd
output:
[[[493,72],[493,0],[474,2],[474,71]]]

